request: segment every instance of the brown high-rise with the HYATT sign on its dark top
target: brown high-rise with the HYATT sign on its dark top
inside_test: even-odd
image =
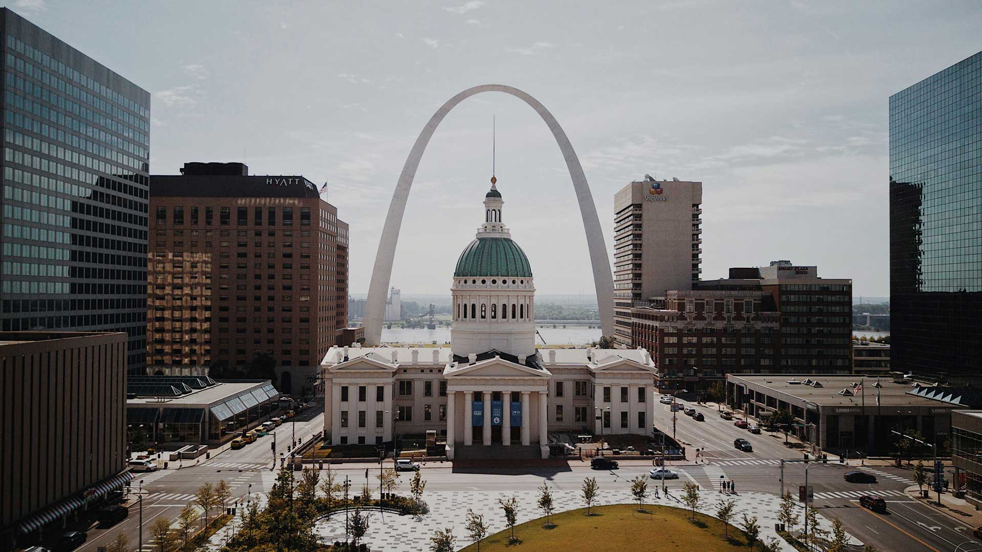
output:
[[[348,325],[348,224],[301,176],[181,172],[151,177],[147,363],[268,356],[280,392],[313,391]]]

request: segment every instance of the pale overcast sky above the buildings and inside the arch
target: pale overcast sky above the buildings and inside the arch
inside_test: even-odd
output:
[[[611,7],[613,4],[614,7]],[[612,251],[613,196],[703,183],[703,278],[791,259],[888,296],[888,98],[980,48],[964,2],[117,2],[9,7],[153,94],[151,174],[245,161],[330,183],[367,291],[409,148],[469,86],[559,120]],[[447,294],[483,219],[498,121],[504,221],[543,294],[592,293],[569,173],[505,94],[464,101],[416,173],[392,285]]]

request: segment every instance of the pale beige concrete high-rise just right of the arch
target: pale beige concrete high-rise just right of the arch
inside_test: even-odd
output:
[[[632,182],[614,195],[614,337],[622,346],[631,343],[631,308],[699,281],[701,204],[702,183],[678,179]]]

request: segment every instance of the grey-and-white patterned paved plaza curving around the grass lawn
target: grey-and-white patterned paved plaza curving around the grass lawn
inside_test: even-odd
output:
[[[649,486],[653,489],[654,484]],[[702,497],[703,505],[700,512],[704,514],[714,513],[719,499],[726,498],[736,502],[737,516],[747,514],[756,516],[757,522],[761,527],[761,538],[769,539],[777,536],[774,524],[777,523],[778,505],[780,499],[774,495],[747,492],[739,495],[723,495],[717,492],[702,490],[699,493]],[[498,505],[499,498],[515,496],[518,498],[518,524],[540,518],[541,511],[535,507],[539,493],[537,491],[517,491],[514,493],[498,494],[477,491],[447,491],[426,493],[425,501],[430,508],[429,514],[416,518],[413,516],[399,516],[388,514],[383,516],[379,512],[371,512],[367,535],[362,539],[373,550],[385,550],[386,552],[417,552],[428,550],[430,546],[430,536],[437,529],[452,527],[457,536],[458,549],[470,544],[464,530],[467,510],[473,510],[478,514],[484,515],[484,521],[489,524],[488,534],[494,534],[506,528],[505,517]],[[668,498],[662,495],[659,499],[649,498],[648,504],[661,506],[672,506],[685,508],[681,502],[682,491],[674,489]],[[625,504],[631,502],[631,496],[626,491],[602,490],[598,494],[596,505],[603,506],[608,504]],[[553,503],[556,512],[566,512],[583,508],[582,500],[578,490],[576,492],[553,491]],[[821,526],[831,531],[832,524],[829,520],[819,516]],[[737,521],[733,522],[737,524]],[[334,542],[345,540],[345,513],[341,511],[332,516],[329,520],[319,522],[314,531],[323,540]],[[779,537],[780,538],[780,537]],[[852,543],[858,543],[851,538]],[[794,552],[790,544],[784,544],[782,550]]]

